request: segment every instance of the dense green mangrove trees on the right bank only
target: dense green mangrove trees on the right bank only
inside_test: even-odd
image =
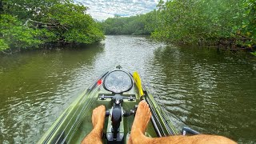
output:
[[[167,42],[206,42],[235,39],[255,45],[254,0],[173,0],[159,2],[153,38]]]

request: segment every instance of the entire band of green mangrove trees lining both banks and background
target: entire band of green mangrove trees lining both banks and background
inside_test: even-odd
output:
[[[197,43],[253,50],[256,1],[173,0],[129,18],[115,16],[100,25],[87,7],[72,0],[2,0],[0,50],[36,48],[46,43],[92,43],[105,34],[151,34],[173,43]],[[254,53],[255,54],[255,53]]]

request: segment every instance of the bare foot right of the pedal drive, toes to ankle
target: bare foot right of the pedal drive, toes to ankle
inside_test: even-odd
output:
[[[131,127],[129,143],[136,143],[140,137],[145,136],[146,126],[150,122],[151,112],[150,106],[145,100],[138,103],[138,109]]]

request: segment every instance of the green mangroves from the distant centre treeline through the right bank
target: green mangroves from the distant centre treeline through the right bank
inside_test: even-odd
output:
[[[160,1],[158,9],[130,18],[108,18],[106,34],[149,34],[174,43],[197,43],[253,49],[256,43],[256,1]]]

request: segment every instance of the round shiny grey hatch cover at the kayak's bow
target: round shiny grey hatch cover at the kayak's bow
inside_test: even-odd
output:
[[[110,72],[104,80],[104,86],[106,90],[112,91],[114,93],[122,93],[130,90],[133,82],[126,72],[117,70]]]

